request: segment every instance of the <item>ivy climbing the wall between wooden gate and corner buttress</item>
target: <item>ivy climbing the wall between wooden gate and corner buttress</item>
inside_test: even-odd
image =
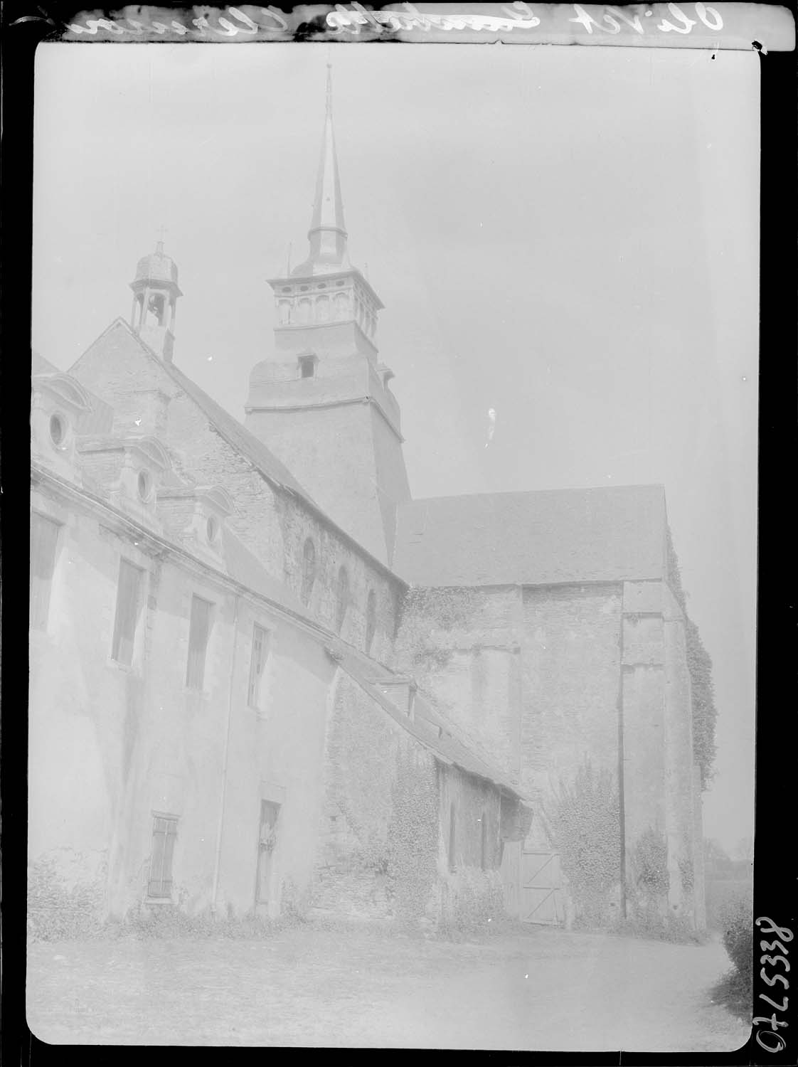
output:
[[[621,879],[621,806],[610,770],[586,761],[559,786],[545,815],[577,911],[588,922],[608,918],[609,897]]]

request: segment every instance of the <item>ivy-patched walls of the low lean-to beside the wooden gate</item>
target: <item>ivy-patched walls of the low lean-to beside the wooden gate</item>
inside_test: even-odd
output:
[[[320,911],[454,925],[502,911],[496,786],[441,765],[344,673],[324,792],[312,894]]]

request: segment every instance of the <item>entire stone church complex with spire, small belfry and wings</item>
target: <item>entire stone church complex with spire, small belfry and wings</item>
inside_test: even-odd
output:
[[[31,866],[106,915],[701,926],[663,488],[414,500],[329,91],[308,241],[243,421],[162,243],[129,321],[34,355]]]

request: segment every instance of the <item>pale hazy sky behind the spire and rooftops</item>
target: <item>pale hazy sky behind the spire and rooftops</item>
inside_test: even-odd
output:
[[[265,280],[307,248],[329,55],[413,495],[665,484],[715,663],[705,832],[734,848],[753,819],[754,52],[39,46],[33,347],[67,368],[127,318],[163,225],[175,362],[242,418]]]

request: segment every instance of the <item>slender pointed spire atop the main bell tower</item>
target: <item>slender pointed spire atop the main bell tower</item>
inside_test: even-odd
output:
[[[316,196],[307,238],[310,242],[309,255],[303,264],[293,270],[293,274],[325,274],[349,269],[344,200],[340,193],[338,159],[335,153],[333,75],[330,63],[326,66],[324,133],[321,141],[321,158],[316,177]]]

